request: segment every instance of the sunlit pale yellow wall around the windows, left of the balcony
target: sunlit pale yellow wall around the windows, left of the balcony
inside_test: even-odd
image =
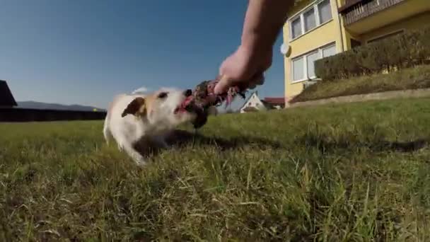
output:
[[[291,47],[291,54],[289,57],[284,57],[284,86],[286,102],[303,91],[303,82],[306,81],[306,79],[293,81],[293,59],[301,57],[303,54],[307,54],[313,50],[318,50],[319,47],[324,47],[330,44],[335,44],[336,52],[342,52],[344,42],[342,40],[342,27],[339,15],[337,14],[337,7],[340,6],[339,4],[343,1],[344,0],[330,0],[332,19],[295,39],[291,39],[291,21],[294,21],[294,19],[301,13],[307,11],[313,7],[313,5],[318,4],[321,1],[308,1],[305,7],[303,7],[302,4],[300,8],[296,8],[291,11],[291,17],[289,17],[289,21],[284,24],[283,28],[284,43]]]

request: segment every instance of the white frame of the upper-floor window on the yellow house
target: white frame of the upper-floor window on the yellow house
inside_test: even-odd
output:
[[[320,6],[320,4],[322,4],[323,2],[328,1],[329,6],[330,6],[330,19],[325,21],[324,23],[321,23],[320,20],[320,11],[318,10],[318,6]],[[308,6],[306,6],[305,8],[303,8],[303,10],[299,11],[298,13],[296,13],[294,16],[291,17],[291,19],[289,19],[288,21],[288,26],[289,26],[289,42],[294,41],[298,38],[301,38],[301,36],[306,35],[307,33],[310,33],[311,31],[315,30],[316,28],[319,28],[322,25],[325,25],[325,23],[328,23],[330,21],[333,20],[333,13],[332,13],[332,1],[333,0],[317,0],[317,1],[313,1],[313,3],[309,4]],[[309,30],[306,30],[305,28],[305,13],[308,13],[308,11],[313,11],[314,16],[315,16],[315,27],[310,28]],[[293,22],[296,21],[298,18],[300,18],[300,27],[301,27],[301,31],[300,34],[297,35],[296,37],[293,37]]]

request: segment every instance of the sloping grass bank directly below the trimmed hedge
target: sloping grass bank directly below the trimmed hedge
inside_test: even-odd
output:
[[[338,81],[320,81],[303,90],[291,100],[291,103],[418,88],[430,88],[430,65],[402,69],[389,74],[359,76]]]

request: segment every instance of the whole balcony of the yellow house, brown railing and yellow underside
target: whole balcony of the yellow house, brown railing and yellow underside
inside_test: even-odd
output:
[[[366,33],[402,19],[430,11],[429,0],[345,0],[339,8],[345,28]]]

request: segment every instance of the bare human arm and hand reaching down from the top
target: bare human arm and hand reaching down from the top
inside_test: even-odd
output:
[[[249,0],[240,45],[221,64],[219,74],[223,79],[215,93],[223,93],[238,83],[246,87],[262,84],[255,81],[261,80],[272,65],[274,42],[293,4],[294,0]]]

